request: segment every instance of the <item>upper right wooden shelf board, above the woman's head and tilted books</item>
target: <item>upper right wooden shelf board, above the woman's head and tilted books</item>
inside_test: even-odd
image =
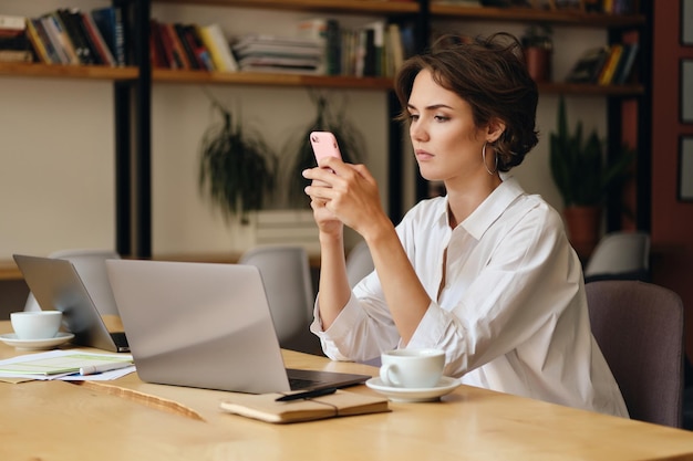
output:
[[[606,14],[579,10],[539,10],[531,8],[458,7],[431,3],[434,19],[469,19],[477,21],[549,22],[583,28],[631,28],[643,25],[642,14]]]

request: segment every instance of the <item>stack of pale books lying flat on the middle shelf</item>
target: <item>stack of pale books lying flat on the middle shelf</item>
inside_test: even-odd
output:
[[[323,73],[323,46],[313,39],[248,34],[232,45],[241,71]]]

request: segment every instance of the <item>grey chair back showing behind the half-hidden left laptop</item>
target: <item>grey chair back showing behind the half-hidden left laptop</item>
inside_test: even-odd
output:
[[[118,315],[111,284],[108,283],[108,274],[106,273],[106,260],[121,259],[121,255],[112,250],[100,249],[70,249],[59,250],[49,258],[69,260],[80,274],[86,291],[94,301],[94,305],[101,315]],[[29,293],[24,311],[40,311],[39,303]]]

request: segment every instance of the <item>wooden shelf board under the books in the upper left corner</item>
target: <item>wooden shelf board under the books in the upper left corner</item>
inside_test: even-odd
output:
[[[127,81],[137,78],[137,67],[2,62],[0,75]]]

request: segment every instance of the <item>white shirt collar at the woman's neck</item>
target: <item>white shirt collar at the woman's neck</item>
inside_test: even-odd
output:
[[[504,178],[500,186],[490,192],[490,195],[486,197],[486,200],[484,200],[467,219],[461,222],[459,226],[476,240],[480,240],[490,224],[503,214],[515,199],[524,193],[525,191],[514,177]],[[439,210],[438,219],[444,220],[445,226],[449,222],[447,196],[445,196],[444,207]]]

